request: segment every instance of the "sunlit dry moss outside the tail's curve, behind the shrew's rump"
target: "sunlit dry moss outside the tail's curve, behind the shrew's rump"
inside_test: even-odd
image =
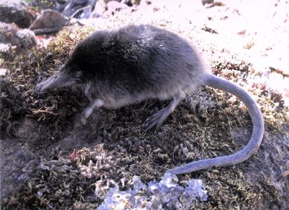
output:
[[[283,125],[289,122],[288,107],[285,106],[280,92],[272,90],[263,82],[262,77],[267,72],[260,74],[255,72],[250,63],[219,63],[214,61],[213,73],[219,74],[225,79],[239,83],[246,87],[255,97],[263,114],[267,129],[271,132],[282,132]]]

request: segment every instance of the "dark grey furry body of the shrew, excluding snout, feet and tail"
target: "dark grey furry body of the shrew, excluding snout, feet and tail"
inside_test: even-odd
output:
[[[131,104],[140,95],[170,99],[179,88],[186,92],[202,83],[204,71],[186,40],[149,25],[92,33],[75,47],[66,67],[81,70],[82,79],[91,81],[87,96],[103,99],[108,108],[127,97]]]

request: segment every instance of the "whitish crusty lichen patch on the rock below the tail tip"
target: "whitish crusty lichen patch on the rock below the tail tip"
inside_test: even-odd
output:
[[[150,181],[148,184],[142,183],[140,177],[134,177],[127,191],[119,191],[118,184],[110,188],[97,210],[189,209],[193,200],[207,200],[202,180],[191,179],[185,182],[184,187],[177,182],[177,176],[169,173],[161,181]]]

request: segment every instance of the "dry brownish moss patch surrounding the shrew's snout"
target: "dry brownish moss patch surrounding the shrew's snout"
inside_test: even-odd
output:
[[[38,95],[35,92],[37,83],[57,72],[77,42],[87,36],[91,28],[66,29],[57,35],[47,47],[34,47],[29,53],[17,56],[13,62],[7,61],[4,65],[8,68],[8,81],[16,91],[10,92],[2,88],[1,101],[3,102],[2,117],[5,122],[17,118],[16,115],[26,115],[38,121],[50,122],[61,126],[68,122],[69,117],[80,110],[83,101],[82,95],[77,95],[71,90],[52,91]],[[13,104],[7,104],[7,99],[21,95],[22,108],[15,112]],[[19,102],[17,102],[19,106]],[[64,126],[64,125],[62,125]],[[6,124],[1,124],[5,131]]]

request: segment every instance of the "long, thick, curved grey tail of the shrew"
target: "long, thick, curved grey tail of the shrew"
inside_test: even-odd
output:
[[[224,90],[225,92],[230,92],[244,102],[249,110],[251,120],[253,122],[253,132],[249,143],[239,152],[230,154],[228,156],[218,156],[213,159],[205,159],[200,161],[194,161],[186,165],[173,168],[168,170],[172,174],[184,174],[188,172],[194,172],[198,170],[204,170],[207,168],[212,168],[213,166],[228,166],[236,165],[242,163],[250,156],[257,152],[264,135],[264,120],[262,118],[262,113],[258,108],[257,104],[254,102],[252,97],[243,88],[227,81],[225,79],[218,78],[212,74],[207,74],[205,78],[205,85],[212,88],[217,88]]]

